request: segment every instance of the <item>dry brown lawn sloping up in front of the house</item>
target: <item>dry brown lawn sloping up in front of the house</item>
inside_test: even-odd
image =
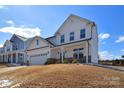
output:
[[[0,73],[0,80],[11,81],[4,87],[124,87],[124,72],[82,64],[55,64]]]

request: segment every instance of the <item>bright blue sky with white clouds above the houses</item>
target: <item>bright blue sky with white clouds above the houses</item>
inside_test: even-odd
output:
[[[0,45],[13,33],[52,36],[75,14],[96,22],[102,59],[124,54],[124,6],[0,6]]]

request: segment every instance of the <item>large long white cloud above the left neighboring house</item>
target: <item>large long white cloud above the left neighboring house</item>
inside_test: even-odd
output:
[[[17,34],[25,37],[33,37],[33,36],[40,36],[40,29],[39,28],[32,28],[32,27],[3,27],[0,28],[0,32],[3,33],[11,33],[11,34]]]

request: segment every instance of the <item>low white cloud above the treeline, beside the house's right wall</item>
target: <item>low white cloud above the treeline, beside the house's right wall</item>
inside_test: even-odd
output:
[[[108,51],[100,51],[99,52],[99,58],[100,60],[111,60],[114,59],[114,55],[112,55],[111,53],[109,53]]]

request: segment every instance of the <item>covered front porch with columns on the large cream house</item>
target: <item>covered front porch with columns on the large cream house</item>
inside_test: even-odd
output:
[[[51,58],[60,59],[77,59],[80,63],[90,63],[90,45],[87,41],[65,44],[51,49]]]

